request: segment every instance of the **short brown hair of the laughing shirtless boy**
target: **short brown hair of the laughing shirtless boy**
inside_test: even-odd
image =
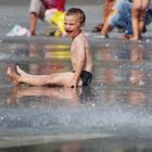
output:
[[[86,15],[81,9],[78,8],[71,8],[69,10],[66,11],[65,15],[79,15],[80,23],[84,24],[86,22]]]

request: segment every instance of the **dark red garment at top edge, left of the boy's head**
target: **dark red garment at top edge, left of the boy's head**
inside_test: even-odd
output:
[[[65,0],[42,0],[43,5],[47,10],[56,9],[59,11],[64,11]]]

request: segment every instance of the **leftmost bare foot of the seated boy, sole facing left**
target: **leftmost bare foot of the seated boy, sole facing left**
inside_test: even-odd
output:
[[[11,67],[8,67],[7,75],[11,78],[13,81],[14,86],[17,86],[20,84],[18,81],[18,75],[12,72]]]

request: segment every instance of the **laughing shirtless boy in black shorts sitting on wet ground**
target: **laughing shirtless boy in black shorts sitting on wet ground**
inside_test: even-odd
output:
[[[88,40],[81,31],[85,20],[85,13],[77,8],[69,9],[65,14],[65,31],[73,39],[71,46],[73,72],[30,75],[18,66],[16,66],[17,74],[9,67],[7,74],[13,84],[15,86],[20,84],[30,86],[56,85],[72,88],[88,86],[92,79],[92,55]]]

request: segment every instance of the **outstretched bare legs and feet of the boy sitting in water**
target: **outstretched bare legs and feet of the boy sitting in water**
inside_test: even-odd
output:
[[[73,77],[72,72],[66,73],[56,73],[50,75],[30,75],[18,66],[16,67],[17,73],[15,74],[12,69],[8,68],[8,76],[12,79],[15,86],[20,84],[26,84],[31,86],[47,86],[47,85],[56,85],[56,86],[65,86]],[[81,80],[79,80],[78,86],[81,86]]]

